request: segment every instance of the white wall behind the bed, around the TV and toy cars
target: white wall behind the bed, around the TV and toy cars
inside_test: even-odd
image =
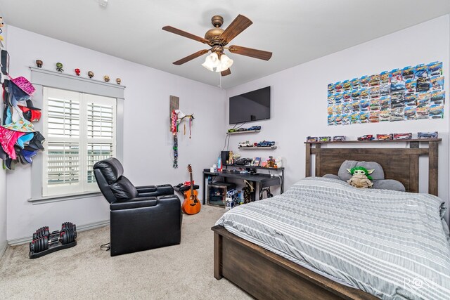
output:
[[[243,157],[280,155],[285,162],[285,188],[304,177],[304,157],[307,136],[345,135],[356,139],[363,134],[439,131],[439,196],[449,197],[449,15],[420,25],[394,32],[338,53],[304,63],[272,74],[268,77],[236,86],[226,91],[226,96],[236,96],[264,86],[271,86],[271,119],[246,124],[262,125],[256,135],[233,135],[230,150],[238,149],[238,142],[247,139],[276,141],[278,149],[270,154],[257,150],[244,150]],[[307,45],[305,45],[307,46]],[[326,46],[326,45],[324,45]],[[276,53],[274,53],[276,55]],[[379,124],[327,125],[327,85],[336,81],[361,77],[384,70],[431,63],[444,63],[446,106],[444,119],[384,122]],[[226,110],[228,114],[228,109]],[[228,116],[226,117],[228,119]],[[421,164],[421,167],[423,164]],[[420,174],[420,190],[428,170]]]

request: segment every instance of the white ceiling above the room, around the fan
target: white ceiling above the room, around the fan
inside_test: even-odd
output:
[[[229,88],[450,13],[449,0],[0,0],[7,24],[217,86],[205,56],[172,62],[207,48],[165,32],[171,25],[203,37],[212,15],[223,27],[238,14],[253,25],[230,44],[274,53],[269,61],[229,54]],[[418,37],[420,39],[420,37]],[[34,45],[33,45],[34,46]]]

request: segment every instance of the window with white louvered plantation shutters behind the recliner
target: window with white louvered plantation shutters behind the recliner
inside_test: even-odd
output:
[[[116,152],[116,99],[44,87],[42,196],[98,190],[92,167]]]

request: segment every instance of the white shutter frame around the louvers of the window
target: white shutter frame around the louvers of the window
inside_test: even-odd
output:
[[[88,93],[79,93],[75,91],[67,91],[62,89],[54,89],[44,87],[44,105],[42,105],[42,118],[44,121],[43,135],[46,137],[46,143],[76,143],[78,146],[78,181],[77,183],[66,183],[58,185],[49,185],[49,155],[48,152],[42,152],[44,168],[42,169],[42,196],[64,196],[75,193],[89,193],[98,192],[98,185],[96,182],[88,183],[88,150],[89,145],[95,144],[111,144],[113,145],[112,155],[115,156],[116,145],[116,133],[117,133],[117,100],[116,98],[110,98],[105,96],[97,96]],[[51,136],[49,134],[49,98],[70,99],[75,100],[79,107],[79,119],[78,119],[78,136]],[[113,137],[112,138],[90,138],[88,134],[88,111],[89,104],[105,105],[113,107]]]

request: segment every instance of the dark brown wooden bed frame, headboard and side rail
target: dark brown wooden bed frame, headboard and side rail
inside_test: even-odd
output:
[[[437,195],[437,159],[440,138],[408,141],[347,141],[306,143],[306,176],[311,176],[311,155],[316,155],[316,176],[338,174],[345,160],[378,162],[385,178],[396,179],[418,193],[418,157],[428,155],[428,190]],[[409,148],[321,148],[326,143],[409,143]],[[428,148],[419,148],[419,143]],[[314,147],[315,146],[315,147]],[[229,233],[214,231],[214,278],[227,278],[257,299],[378,299],[346,287]]]

